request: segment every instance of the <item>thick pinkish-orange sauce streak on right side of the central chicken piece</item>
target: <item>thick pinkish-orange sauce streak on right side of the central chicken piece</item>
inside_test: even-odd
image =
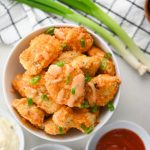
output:
[[[73,107],[73,104],[75,101],[78,100],[78,98],[84,96],[84,84],[85,84],[85,78],[83,74],[79,74],[74,77],[71,89],[75,88],[75,94],[71,94],[69,100],[68,100],[68,106]]]

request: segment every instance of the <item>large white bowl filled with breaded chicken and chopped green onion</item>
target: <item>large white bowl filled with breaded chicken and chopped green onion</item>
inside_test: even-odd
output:
[[[3,74],[5,101],[30,133],[79,140],[100,129],[119,102],[120,74],[103,39],[81,26],[42,27],[12,50]]]

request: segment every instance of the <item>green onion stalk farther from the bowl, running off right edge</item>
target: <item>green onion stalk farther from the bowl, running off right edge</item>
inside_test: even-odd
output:
[[[100,6],[96,5],[91,0],[59,0],[72,8],[83,11],[104,23],[110,30],[112,30],[128,47],[131,53],[137,57],[150,71],[150,56],[141,51],[134,43],[133,39],[115,22],[107,13],[105,13]]]

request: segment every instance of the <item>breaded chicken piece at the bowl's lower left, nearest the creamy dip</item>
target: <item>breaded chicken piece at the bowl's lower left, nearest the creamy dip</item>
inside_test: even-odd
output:
[[[45,113],[34,104],[29,106],[27,98],[13,100],[12,106],[31,124],[36,127],[42,126]]]

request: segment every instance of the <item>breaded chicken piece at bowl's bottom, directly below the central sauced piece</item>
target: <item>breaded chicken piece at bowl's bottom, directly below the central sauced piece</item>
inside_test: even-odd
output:
[[[85,132],[81,127],[94,127],[96,123],[96,114],[90,113],[87,109],[72,109],[70,107],[62,107],[53,115],[53,121],[55,124],[64,128],[76,128],[82,132]]]

